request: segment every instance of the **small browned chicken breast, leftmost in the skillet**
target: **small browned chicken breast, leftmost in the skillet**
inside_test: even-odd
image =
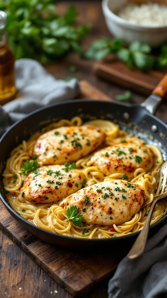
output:
[[[25,179],[21,196],[32,203],[52,203],[66,198],[83,186],[84,174],[64,165],[38,168]]]

